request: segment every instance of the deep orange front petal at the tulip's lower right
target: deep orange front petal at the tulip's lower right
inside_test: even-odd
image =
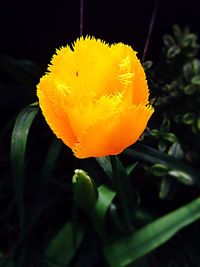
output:
[[[116,155],[138,140],[144,131],[152,107],[132,106],[129,110],[116,112],[89,127],[74,145],[78,158]]]

